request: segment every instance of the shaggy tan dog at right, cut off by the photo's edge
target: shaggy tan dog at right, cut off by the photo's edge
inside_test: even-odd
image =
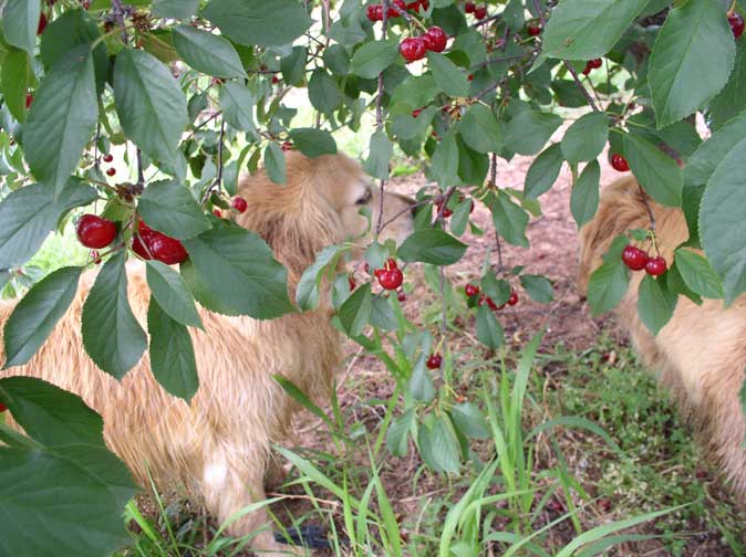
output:
[[[655,217],[661,255],[671,264],[673,250],[688,238],[684,214],[645,198],[634,178],[622,178],[605,188],[595,218],[581,231],[583,292],[614,238],[628,230],[650,228],[645,199]],[[746,428],[738,391],[746,369],[746,298],[737,299],[726,309],[723,301],[704,299],[697,306],[680,296],[671,322],[653,336],[638,318],[638,286],[643,276],[644,273],[632,273],[617,314],[638,353],[661,372],[663,383],[674,391],[683,413],[694,419],[701,439],[744,500]]]

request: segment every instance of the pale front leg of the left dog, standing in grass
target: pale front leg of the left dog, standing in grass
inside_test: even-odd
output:
[[[263,486],[267,458],[260,448],[253,454],[229,455],[221,449],[210,454],[203,473],[203,497],[221,525],[231,515],[267,500]],[[273,523],[266,507],[235,519],[226,529],[235,537],[250,536],[249,547],[261,557],[304,555],[301,548],[274,540]]]

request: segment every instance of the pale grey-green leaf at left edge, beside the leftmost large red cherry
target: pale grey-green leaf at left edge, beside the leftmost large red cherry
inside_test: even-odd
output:
[[[52,188],[32,183],[12,191],[0,202],[0,269],[22,265],[37,253],[60,216],[96,199],[96,191],[70,180],[59,200]]]

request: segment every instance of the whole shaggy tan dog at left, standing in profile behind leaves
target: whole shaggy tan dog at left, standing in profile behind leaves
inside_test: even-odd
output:
[[[375,223],[381,198],[360,165],[342,155],[311,160],[291,154],[287,177],[287,186],[272,183],[263,171],[245,179],[239,195],[249,208],[237,220],[259,233],[288,267],[292,296],[322,248],[365,233],[362,207],[371,208]],[[401,240],[411,231],[411,202],[386,193],[384,220],[401,213],[387,227],[390,237]],[[265,501],[263,482],[277,466],[270,443],[291,433],[291,418],[299,410],[272,375],[319,396],[330,390],[341,359],[329,293],[320,296],[318,309],[274,320],[226,317],[200,308],[205,330],[190,330],[200,388],[187,404],[155,381],[147,355],[122,382],[100,371],[86,356],[81,309],[94,278],[94,273],[84,275],[77,297],[32,360],[0,377],[40,377],[80,395],[103,416],[106,442],[142,485],[148,485],[148,474],[162,486],[184,482],[221,523]],[[149,290],[142,264],[128,266],[128,293],[144,326]],[[0,305],[0,323],[11,311],[12,305]],[[228,532],[246,535],[261,529],[249,544],[252,548],[271,555],[288,551],[268,526],[262,508],[234,522]]]

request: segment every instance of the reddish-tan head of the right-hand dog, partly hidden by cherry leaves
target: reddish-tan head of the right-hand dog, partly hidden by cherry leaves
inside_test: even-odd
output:
[[[650,228],[647,208],[655,217],[661,255],[671,261],[671,250],[688,234],[682,212],[657,204],[645,195],[634,177],[621,178],[604,188],[595,217],[580,230],[579,287],[583,294],[614,238],[629,230]]]

